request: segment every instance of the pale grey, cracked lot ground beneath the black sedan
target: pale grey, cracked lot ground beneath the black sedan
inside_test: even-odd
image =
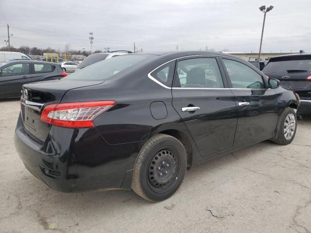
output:
[[[0,112],[1,233],[311,232],[311,117],[292,144],[266,141],[192,167],[173,197],[150,203],[132,191],[48,188],[15,151],[19,101],[0,101]]]

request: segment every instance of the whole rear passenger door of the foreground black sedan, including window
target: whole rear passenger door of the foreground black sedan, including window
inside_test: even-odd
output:
[[[175,68],[173,107],[201,156],[229,149],[234,142],[237,109],[219,63],[216,57],[188,57],[177,60]]]

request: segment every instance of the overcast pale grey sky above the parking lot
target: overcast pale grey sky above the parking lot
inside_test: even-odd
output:
[[[27,2],[27,4],[26,4]],[[311,52],[311,0],[0,0],[0,47]]]

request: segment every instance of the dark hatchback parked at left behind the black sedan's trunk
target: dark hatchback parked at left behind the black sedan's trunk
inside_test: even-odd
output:
[[[52,62],[15,60],[0,65],[0,99],[20,97],[22,85],[67,76]]]

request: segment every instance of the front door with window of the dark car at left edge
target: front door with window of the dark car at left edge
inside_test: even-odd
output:
[[[29,63],[16,63],[1,68],[0,97],[19,96],[22,85],[31,83],[30,69]]]

